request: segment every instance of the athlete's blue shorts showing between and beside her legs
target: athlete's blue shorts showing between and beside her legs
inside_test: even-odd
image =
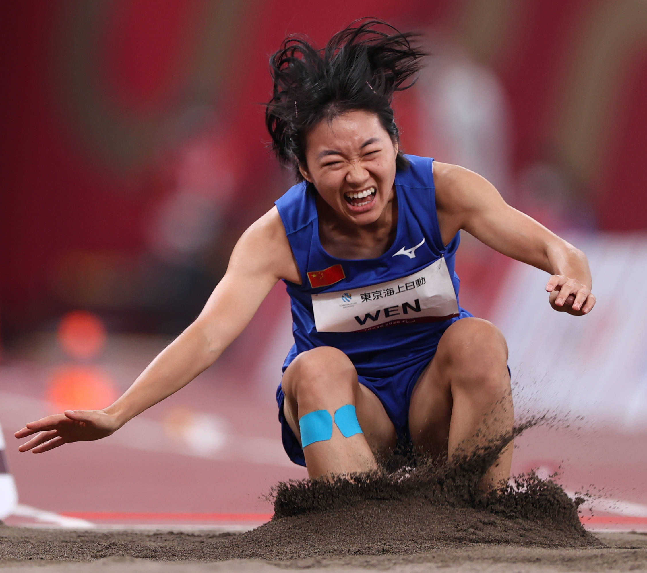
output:
[[[408,448],[411,443],[409,433],[409,404],[411,402],[413,386],[415,386],[422,371],[428,366],[434,355],[435,345],[430,355],[425,356],[419,362],[400,369],[395,375],[386,378],[357,376],[360,384],[371,390],[380,399],[380,402],[382,402],[386,414],[395,427],[395,432],[398,436],[398,445],[402,448]],[[295,464],[305,466],[305,457],[303,457],[301,445],[283,414],[285,395],[281,386],[276,390],[276,402],[279,406],[279,421],[281,422],[283,448],[285,448],[285,452],[287,452],[287,455]]]

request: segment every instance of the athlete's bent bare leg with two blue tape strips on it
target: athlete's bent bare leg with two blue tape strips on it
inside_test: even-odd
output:
[[[395,428],[382,402],[358,382],[355,366],[342,351],[323,346],[302,352],[285,370],[281,386],[285,394],[283,413],[300,443],[299,420],[304,415],[326,410],[334,417],[334,412],[346,404],[355,406],[364,432],[344,437],[333,424],[331,439],[303,448],[310,477],[375,470],[375,453],[395,446]]]

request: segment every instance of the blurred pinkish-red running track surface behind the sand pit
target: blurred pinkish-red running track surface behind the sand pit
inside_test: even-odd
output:
[[[141,360],[147,359],[144,353]],[[133,373],[141,367],[131,364]],[[4,368],[0,375],[0,421],[8,444],[8,464],[23,505],[93,523],[258,524],[272,516],[272,501],[267,497],[272,486],[306,475],[304,468],[286,463],[280,451],[274,382],[254,386],[249,380],[232,377],[224,368],[210,369],[144,413],[144,424],[131,426],[127,439],[126,434],[118,434],[134,421],[102,441],[70,444],[41,455],[19,453],[12,433],[26,421],[51,413],[51,407],[39,397],[47,372],[47,368],[32,364]],[[174,408],[221,419],[228,439],[238,440],[236,448],[225,447],[209,457],[159,436],[154,447],[146,449],[146,441],[134,447],[131,442],[142,437],[138,428],[161,432],[164,417]],[[149,441],[155,432],[148,436]],[[272,446],[276,455],[272,453],[264,463],[239,455],[238,450],[248,441],[258,439],[265,440],[261,446]],[[512,470],[520,473],[543,467],[553,472],[560,468],[558,480],[571,492],[589,491],[606,499],[647,506],[645,443],[644,435],[604,427],[578,431],[532,428],[516,440]],[[593,528],[647,527],[647,516],[640,511],[624,516],[610,513],[615,510],[597,511],[593,516],[584,512],[582,522]]]

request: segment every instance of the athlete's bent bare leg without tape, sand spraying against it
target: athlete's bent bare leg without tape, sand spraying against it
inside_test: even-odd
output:
[[[514,424],[508,347],[496,326],[462,318],[441,337],[411,395],[409,428],[417,450],[431,455],[470,453]],[[512,444],[483,478],[483,487],[507,481]]]

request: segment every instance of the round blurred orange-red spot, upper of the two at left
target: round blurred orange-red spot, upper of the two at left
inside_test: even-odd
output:
[[[58,344],[71,357],[90,359],[105,346],[105,326],[101,318],[86,311],[67,313],[58,325]]]

